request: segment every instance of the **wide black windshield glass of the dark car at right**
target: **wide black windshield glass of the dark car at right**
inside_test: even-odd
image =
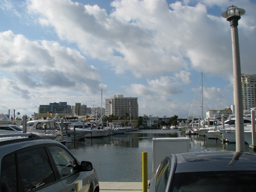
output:
[[[255,171],[175,173],[171,192],[255,191]]]

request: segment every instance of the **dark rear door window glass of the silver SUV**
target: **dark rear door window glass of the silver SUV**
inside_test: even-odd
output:
[[[55,181],[44,147],[18,152],[21,191],[32,191]]]

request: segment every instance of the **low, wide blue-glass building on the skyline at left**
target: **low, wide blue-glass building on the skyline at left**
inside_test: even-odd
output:
[[[72,113],[72,108],[67,102],[54,102],[49,105],[39,105],[38,113]]]

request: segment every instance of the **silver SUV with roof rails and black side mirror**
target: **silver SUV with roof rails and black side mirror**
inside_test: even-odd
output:
[[[0,135],[1,192],[99,192],[98,174],[60,142],[33,133]]]

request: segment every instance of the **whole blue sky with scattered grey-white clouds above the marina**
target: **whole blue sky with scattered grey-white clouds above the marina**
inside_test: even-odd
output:
[[[241,72],[256,74],[255,0],[0,0],[0,113],[53,102],[105,107],[138,97],[139,116],[233,104],[231,5]],[[193,105],[192,105],[193,103]]]

